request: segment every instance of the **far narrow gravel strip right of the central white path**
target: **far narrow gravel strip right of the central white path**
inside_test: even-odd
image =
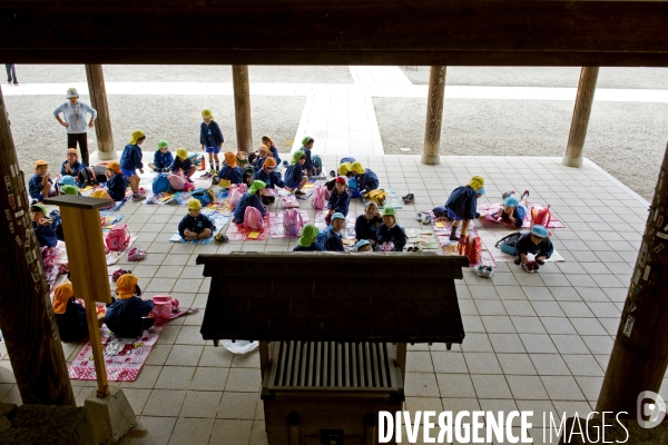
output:
[[[429,67],[401,67],[414,85],[429,83]],[[445,85],[578,88],[580,67],[448,67]],[[19,77],[20,79],[20,77]],[[601,67],[598,88],[666,89],[667,68]]]

